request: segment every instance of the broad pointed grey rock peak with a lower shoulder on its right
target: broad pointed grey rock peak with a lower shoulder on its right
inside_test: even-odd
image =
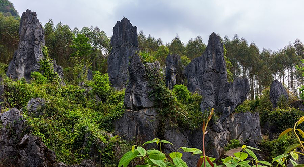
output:
[[[215,108],[220,120],[227,118],[240,105],[249,92],[248,79],[227,81],[223,44],[214,32],[210,35],[206,51],[185,68],[188,90],[203,96],[201,109]]]

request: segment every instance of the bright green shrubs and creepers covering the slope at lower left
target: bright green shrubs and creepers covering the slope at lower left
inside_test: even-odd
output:
[[[5,107],[22,108],[27,131],[41,137],[46,146],[55,151],[58,160],[79,163],[91,156],[90,149],[96,149],[99,155],[93,158],[100,156],[102,166],[115,166],[113,150],[121,140],[109,132],[113,132],[112,121],[124,113],[124,92],[113,90],[106,74],[96,72],[94,80],[85,81],[83,87],[61,86],[60,82],[50,80],[46,69],[49,68],[43,68],[44,74],[33,72],[30,84],[25,80],[12,81],[2,73]],[[87,90],[88,86],[92,86],[92,90]],[[35,112],[40,114],[32,114],[26,105],[37,97],[43,98],[46,104]]]

